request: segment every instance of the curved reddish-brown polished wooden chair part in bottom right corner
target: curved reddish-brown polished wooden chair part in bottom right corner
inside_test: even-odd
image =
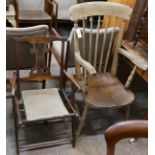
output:
[[[143,120],[119,122],[104,132],[107,143],[107,155],[114,155],[115,145],[124,138],[147,138],[148,122]]]

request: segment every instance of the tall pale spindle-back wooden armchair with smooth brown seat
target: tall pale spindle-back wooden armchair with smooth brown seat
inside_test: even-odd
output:
[[[90,107],[95,109],[127,107],[126,119],[128,118],[129,105],[134,100],[134,94],[128,90],[128,87],[135,68],[125,85],[117,79],[116,73],[123,31],[132,9],[112,2],[87,2],[72,6],[69,13],[74,22],[76,78],[68,75],[66,70],[64,74],[76,88],[73,94],[80,89],[85,103],[76,132],[78,137]],[[111,16],[114,16],[115,22],[109,28],[108,19]],[[106,20],[105,29],[102,28],[103,18]],[[118,18],[122,19],[120,28],[116,27]],[[82,24],[81,28],[79,24]]]

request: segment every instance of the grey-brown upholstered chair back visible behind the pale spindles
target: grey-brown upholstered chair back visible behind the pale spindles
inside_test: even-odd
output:
[[[83,29],[80,27],[80,31],[81,31],[81,34],[83,33]],[[96,41],[96,29],[93,29],[92,30],[92,43],[94,43]],[[102,45],[102,42],[103,42],[103,39],[104,39],[104,32],[105,32],[105,29],[101,29],[100,32],[99,32],[99,45]],[[113,32],[113,28],[108,28],[107,29],[107,36],[106,36],[106,43],[105,43],[105,51],[108,50],[108,43],[110,41],[110,37],[112,35],[112,32]],[[115,28],[115,32],[114,34],[116,35],[117,33],[119,32],[119,28],[116,27]],[[89,41],[89,35],[90,35],[91,31],[89,28],[87,28],[85,30],[85,41],[83,41],[82,38],[79,39],[79,49],[80,49],[80,52],[81,52],[81,56],[86,59],[87,61],[89,61],[89,48],[90,48],[90,41]],[[69,36],[69,48],[68,48],[68,53],[67,53],[67,66],[68,67],[73,67],[75,65],[75,62],[74,62],[74,29],[71,30],[71,33],[70,33],[70,36]],[[83,46],[85,45],[85,53],[83,54]],[[95,51],[95,44],[91,44],[91,49],[92,51]],[[107,53],[107,52],[106,52]],[[98,47],[98,50],[97,50],[97,65],[99,65],[99,62],[100,62],[100,56],[101,56],[101,46]],[[91,61],[90,62],[93,62],[94,61],[94,53],[92,52],[92,56],[91,56]],[[105,56],[104,56],[104,60],[105,61]]]

